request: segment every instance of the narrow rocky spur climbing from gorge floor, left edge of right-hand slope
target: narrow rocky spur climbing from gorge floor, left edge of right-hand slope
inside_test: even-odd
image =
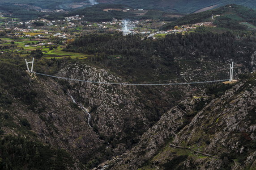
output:
[[[178,107],[164,114],[158,123],[142,135],[139,145],[132,148],[113,169],[133,170],[149,160],[165,144],[166,139],[170,136],[175,138],[174,132],[183,124],[183,115],[184,113]]]

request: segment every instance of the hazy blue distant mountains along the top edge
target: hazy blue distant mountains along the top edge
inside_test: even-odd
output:
[[[40,8],[73,9],[92,4],[126,4],[132,8],[157,9],[168,12],[194,13],[226,4],[240,4],[256,8],[255,0],[1,0],[0,4],[30,4]],[[3,10],[3,9],[2,9]]]

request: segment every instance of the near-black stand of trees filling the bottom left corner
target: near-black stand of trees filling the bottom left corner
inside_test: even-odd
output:
[[[73,158],[64,150],[19,136],[0,140],[1,170],[64,170],[73,167]]]

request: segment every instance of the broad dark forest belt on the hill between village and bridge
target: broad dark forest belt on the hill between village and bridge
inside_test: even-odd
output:
[[[249,60],[246,58],[251,55],[248,51],[255,50],[254,41],[255,36],[236,40],[236,36],[230,32],[169,34],[156,40],[138,34],[91,34],[77,38],[65,50],[94,54],[92,61],[118,70],[121,75],[136,76],[141,69],[156,69],[162,75],[170,76],[173,73],[169,68],[177,68],[173,62],[175,58],[196,60],[204,56],[205,61],[225,62],[226,58],[232,56],[237,62],[247,65]],[[241,49],[241,45],[245,44],[247,50]],[[238,49],[244,54],[237,53]]]

